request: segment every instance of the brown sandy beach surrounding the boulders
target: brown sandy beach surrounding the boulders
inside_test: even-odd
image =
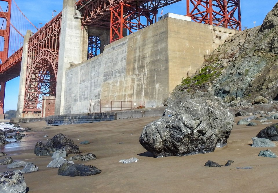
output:
[[[235,122],[241,118],[235,118]],[[52,126],[51,129],[43,129],[47,127],[45,122],[24,123],[21,124],[22,127],[33,127],[37,131],[26,132],[30,136],[23,138],[21,142],[1,146],[0,151],[6,152],[13,160],[30,161],[39,166],[39,171],[24,174],[30,193],[278,192],[278,158],[258,156],[264,149],[271,149],[278,154],[278,147],[250,146],[251,138],[268,125],[234,125],[228,145],[217,148],[212,153],[153,158],[140,145],[139,136],[142,128],[156,119],[158,117],[115,120]],[[277,122],[278,120],[272,120],[272,123]],[[82,163],[94,165],[102,172],[94,176],[67,177],[58,176],[58,168],[47,168],[46,165],[52,158],[35,156],[35,143],[40,140],[46,143],[47,138],[43,138],[45,134],[50,139],[59,133],[73,139],[83,154],[95,154],[97,160]],[[90,144],[79,144],[84,140],[89,140]],[[129,164],[119,162],[120,159],[131,157],[137,157],[139,161]],[[235,163],[228,167],[213,168],[204,166],[207,160],[221,165],[227,160]],[[246,166],[252,166],[253,169],[236,169]],[[0,165],[0,172],[7,170],[12,169]]]

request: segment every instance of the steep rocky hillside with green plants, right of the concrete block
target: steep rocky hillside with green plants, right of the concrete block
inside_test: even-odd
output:
[[[212,91],[221,98],[278,100],[278,3],[261,26],[229,37],[182,80],[180,90]]]

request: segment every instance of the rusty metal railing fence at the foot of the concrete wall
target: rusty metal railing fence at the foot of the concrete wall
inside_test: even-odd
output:
[[[145,107],[145,102],[141,101],[91,100],[87,113],[141,109],[143,107]]]

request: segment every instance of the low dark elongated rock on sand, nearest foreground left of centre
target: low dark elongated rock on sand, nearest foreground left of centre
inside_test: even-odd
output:
[[[58,169],[58,176],[92,176],[101,170],[92,165],[63,163]]]

